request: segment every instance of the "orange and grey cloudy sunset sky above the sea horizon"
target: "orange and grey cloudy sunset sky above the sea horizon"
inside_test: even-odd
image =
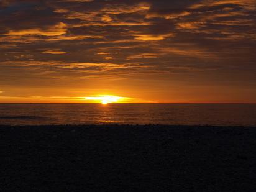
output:
[[[0,103],[256,103],[256,0],[0,0]]]

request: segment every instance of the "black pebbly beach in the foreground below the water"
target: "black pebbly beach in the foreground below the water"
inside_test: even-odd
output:
[[[0,126],[0,191],[256,191],[256,127]]]

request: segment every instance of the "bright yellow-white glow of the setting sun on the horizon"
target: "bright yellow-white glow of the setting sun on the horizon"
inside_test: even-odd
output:
[[[112,96],[112,95],[92,96],[92,97],[85,98],[85,100],[95,101],[95,103],[101,103],[104,105],[109,104],[109,103],[123,103],[127,99],[129,99],[129,98]]]

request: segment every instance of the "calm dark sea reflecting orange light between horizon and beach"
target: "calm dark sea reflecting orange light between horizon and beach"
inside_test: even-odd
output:
[[[256,104],[0,104],[0,124],[256,126]]]

